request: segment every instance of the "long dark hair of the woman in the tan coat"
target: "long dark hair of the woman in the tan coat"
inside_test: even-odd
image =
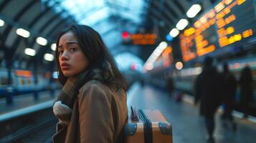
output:
[[[108,83],[108,85],[115,85],[116,87],[120,87],[127,91],[128,84],[126,79],[118,70],[113,56],[110,55],[100,34],[98,34],[98,32],[92,29],[90,26],[75,24],[58,34],[57,46],[59,46],[60,37],[69,31],[75,34],[83,54],[85,54],[89,61],[89,66],[86,70],[91,70],[93,68],[103,66],[103,64],[108,61],[112,68],[113,78],[106,79],[104,82]],[[67,81],[67,77],[64,76],[62,70],[60,69],[59,52],[57,50],[55,52],[55,59],[57,62],[57,71],[59,73],[58,79],[60,80],[60,83],[64,85]]]

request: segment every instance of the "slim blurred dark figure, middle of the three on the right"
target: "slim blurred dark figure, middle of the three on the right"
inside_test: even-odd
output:
[[[222,120],[228,121],[232,124],[233,131],[236,131],[237,124],[234,122],[234,119],[232,117],[232,111],[234,109],[234,102],[235,102],[235,92],[237,89],[237,83],[236,79],[234,77],[234,74],[229,71],[229,66],[226,62],[223,64],[223,104],[224,104],[224,112],[221,116]]]

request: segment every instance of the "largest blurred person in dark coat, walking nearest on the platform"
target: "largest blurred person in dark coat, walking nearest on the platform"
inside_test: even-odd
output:
[[[195,83],[195,101],[197,104],[200,101],[200,114],[204,116],[205,125],[207,127],[208,139],[207,142],[214,143],[214,114],[217,111],[222,97],[222,79],[213,66],[212,57],[204,59],[204,69],[196,78]]]

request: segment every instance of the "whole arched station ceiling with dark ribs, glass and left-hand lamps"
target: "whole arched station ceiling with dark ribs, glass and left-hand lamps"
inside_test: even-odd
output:
[[[175,27],[192,4],[199,3],[204,10],[214,2],[215,0],[0,0],[1,65],[22,68],[38,64],[54,65],[50,55],[54,54],[52,49],[57,32],[74,23],[92,26],[103,36],[114,56],[131,53],[145,61],[145,57],[151,54],[156,45],[150,45],[148,49],[123,45],[123,31],[136,33],[150,29],[158,36],[158,44],[164,40],[162,35],[168,34]],[[26,52],[32,54],[27,55]],[[126,56],[125,58],[127,59]]]

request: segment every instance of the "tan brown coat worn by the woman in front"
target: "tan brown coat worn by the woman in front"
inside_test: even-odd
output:
[[[70,123],[57,124],[53,142],[112,143],[120,141],[128,117],[126,93],[96,80],[79,91]]]

